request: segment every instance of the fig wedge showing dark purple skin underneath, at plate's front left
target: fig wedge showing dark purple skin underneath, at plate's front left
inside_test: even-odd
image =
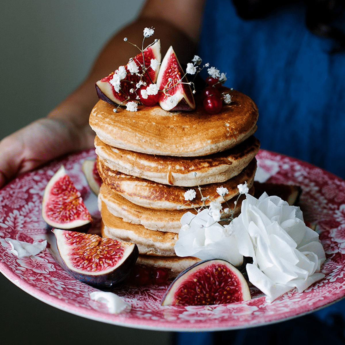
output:
[[[134,243],[62,229],[52,232],[62,267],[72,277],[91,286],[110,288],[121,282],[138,258]]]

